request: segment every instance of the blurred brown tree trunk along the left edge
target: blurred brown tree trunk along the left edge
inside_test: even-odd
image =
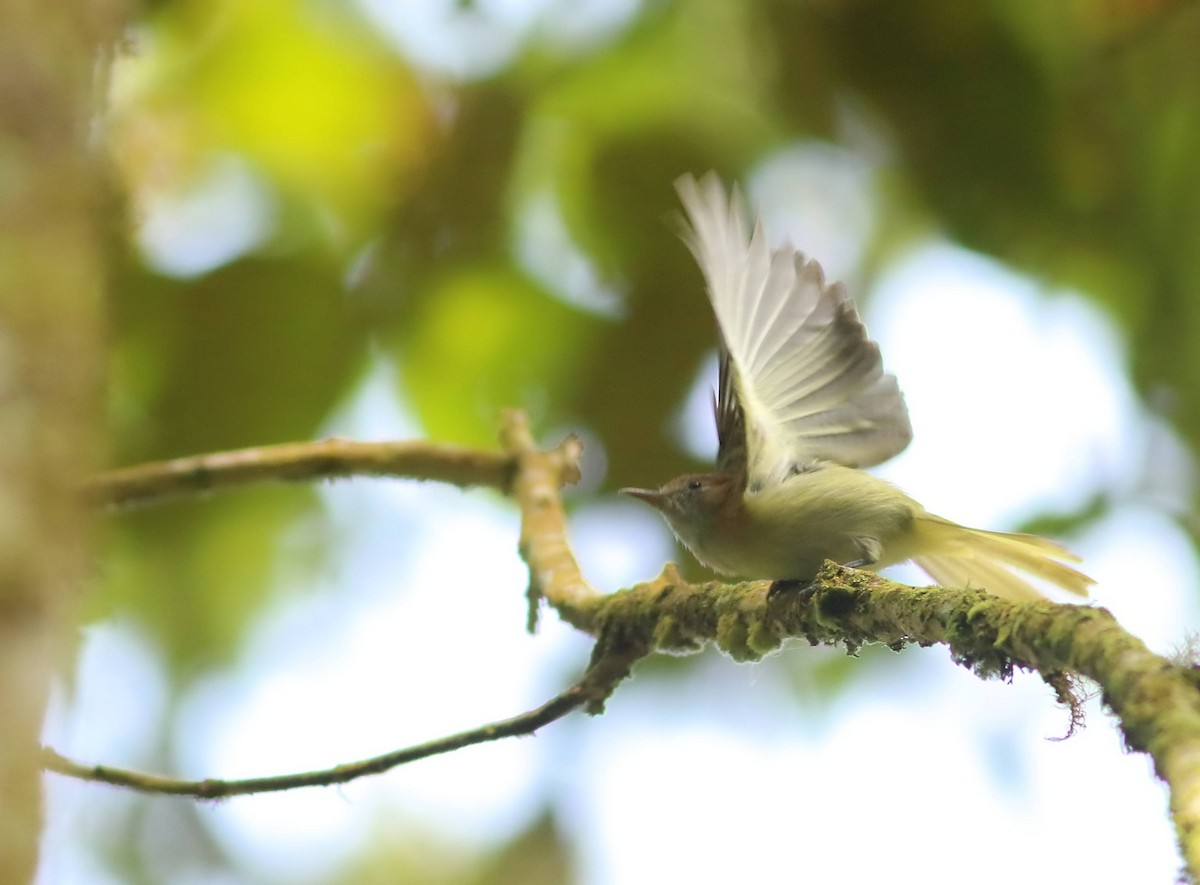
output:
[[[0,4],[0,881],[31,881],[40,734],[86,570],[104,279],[94,126],[112,0]]]

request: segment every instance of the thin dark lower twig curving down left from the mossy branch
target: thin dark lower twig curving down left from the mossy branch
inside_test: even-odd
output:
[[[601,645],[598,644],[596,648],[600,649]],[[84,765],[49,747],[42,748],[42,766],[48,771],[55,771],[82,781],[127,787],[139,793],[193,796],[196,799],[226,799],[228,796],[242,796],[252,793],[277,793],[300,787],[330,787],[356,781],[360,777],[370,775],[379,775],[400,765],[407,765],[419,759],[428,759],[433,755],[442,755],[443,753],[450,753],[475,743],[487,743],[503,738],[532,735],[538,729],[563,718],[580,706],[587,705],[588,710],[598,711],[602,706],[604,699],[612,693],[617,682],[629,675],[630,667],[632,667],[634,662],[642,654],[644,654],[644,649],[632,645],[605,644],[604,651],[598,651],[593,656],[592,664],[588,667],[583,679],[534,710],[467,732],[438,738],[425,743],[418,743],[403,749],[396,749],[368,759],[346,763],[319,771],[301,771],[271,777],[251,777],[239,781],[222,781],[217,778],[186,781],[143,771],[116,769],[108,765]]]

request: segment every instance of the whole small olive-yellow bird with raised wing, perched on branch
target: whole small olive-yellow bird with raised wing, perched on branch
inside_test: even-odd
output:
[[[810,584],[826,560],[871,571],[912,560],[942,586],[1040,598],[1030,577],[1087,595],[1079,556],[1036,535],[968,529],[863,471],[912,439],[894,375],[840,283],[794,248],[748,234],[737,188],[676,182],[720,327],[716,472],[625,488],[722,574]]]

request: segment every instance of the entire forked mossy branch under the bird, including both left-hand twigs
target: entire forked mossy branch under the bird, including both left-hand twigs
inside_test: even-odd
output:
[[[712,643],[737,661],[755,661],[787,639],[850,650],[866,643],[894,649],[912,643],[942,644],[954,661],[980,676],[1007,678],[1014,669],[1038,673],[1073,706],[1073,714],[1072,680],[1082,676],[1094,681],[1130,749],[1148,753],[1170,788],[1181,850],[1189,874],[1200,880],[1200,675],[1151,652],[1105,609],[1014,603],[983,590],[910,588],[832,562],[817,576],[809,596],[782,594],[768,600],[766,582],[689,584],[673,566],[637,586],[600,594],[588,584],[571,553],[559,498],[560,487],[578,477],[580,442],[568,438],[556,448],[539,448],[521,413],[505,416],[502,440],[504,452],[342,440],[271,446],[132,468],[89,486],[88,496],[107,504],[151,502],[262,480],[352,475],[503,488],[514,495],[522,514],[520,550],[529,566],[529,627],[535,626],[545,600],[563,620],[598,639],[582,682],[538,710],[464,733],[467,740],[451,735],[326,772],[256,778],[241,787],[236,782],[168,778],[164,791],[212,796],[252,791],[251,787],[257,791],[340,783],[479,740],[529,734],[580,706],[600,712],[632,664],[652,651],[686,654]],[[433,752],[426,752],[430,748]],[[64,773],[154,788],[152,776],[138,779],[126,776],[134,772],[120,772],[116,777],[113,769],[84,766],[53,751],[46,753],[47,766]],[[216,793],[214,783],[221,784]]]

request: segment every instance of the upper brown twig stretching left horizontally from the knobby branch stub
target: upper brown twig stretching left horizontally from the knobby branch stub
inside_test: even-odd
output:
[[[240,448],[122,468],[84,486],[92,504],[158,504],[187,494],[258,482],[311,482],[348,476],[436,480],[455,486],[506,490],[516,462],[504,452],[485,452],[433,442],[352,442],[326,439]]]

